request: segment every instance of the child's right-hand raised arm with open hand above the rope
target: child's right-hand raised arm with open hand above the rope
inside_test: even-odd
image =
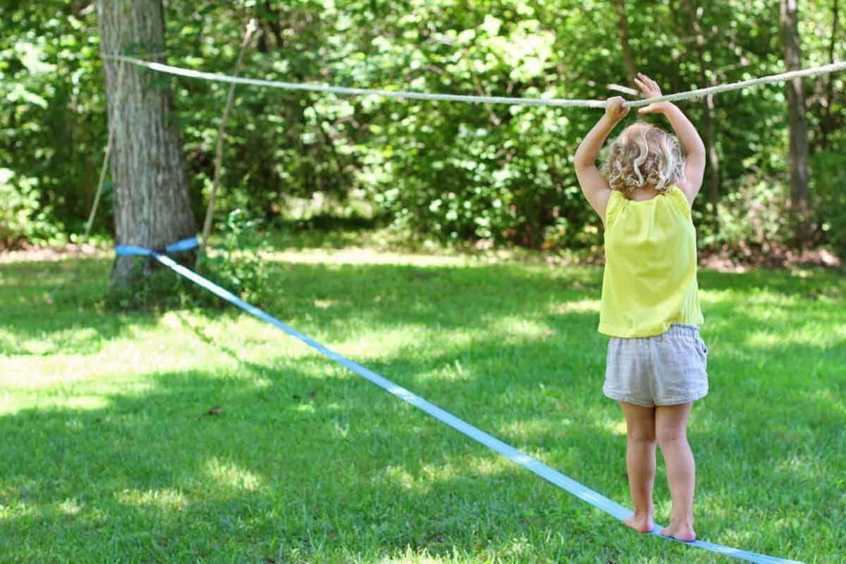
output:
[[[634,79],[634,82],[640,87],[644,98],[661,96],[661,88],[658,87],[656,81],[645,74],[638,73],[638,78]],[[693,205],[693,200],[702,187],[702,177],[705,175],[705,144],[702,143],[699,133],[696,132],[696,128],[684,112],[672,102],[662,101],[641,107],[640,113],[663,113],[670,120],[673,131],[676,132],[678,140],[684,147],[685,155],[684,180],[679,183],[678,188],[682,189],[690,205]]]

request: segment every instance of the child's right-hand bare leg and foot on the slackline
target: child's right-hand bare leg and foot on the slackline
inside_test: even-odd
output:
[[[679,405],[665,405],[656,408],[656,434],[664,463],[667,465],[667,482],[673,509],[670,511],[670,525],[661,534],[674,539],[691,541],[696,539],[693,530],[693,496],[696,483],[696,467],[693,452],[687,441],[687,421],[693,402]]]

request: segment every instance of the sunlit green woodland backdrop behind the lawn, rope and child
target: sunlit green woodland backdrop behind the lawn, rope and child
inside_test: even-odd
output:
[[[838,0],[799,4],[804,66],[844,55]],[[242,74],[508,96],[604,98],[624,83],[626,50],[612,0],[239,0],[165,5],[168,62],[229,72],[244,25],[259,34]],[[625,3],[632,64],[666,91],[781,72],[773,3]],[[0,8],[0,219],[6,244],[81,230],[106,145],[96,14],[84,2]],[[226,85],[152,75],[170,85],[195,212],[211,187]],[[846,74],[805,80],[811,244],[846,249]],[[705,81],[708,84],[703,84]],[[711,139],[700,243],[788,241],[788,111],[777,85],[684,102]],[[632,117],[634,118],[634,117]],[[707,119],[710,118],[710,128]],[[303,213],[380,216],[429,238],[532,247],[591,245],[601,233],[569,164],[596,111],[343,98],[240,87],[228,122],[218,209],[281,221]],[[714,159],[713,156],[717,156]],[[107,199],[111,193],[107,194]],[[717,203],[709,210],[708,202]],[[108,202],[107,202],[108,203]],[[98,217],[102,233],[114,217]],[[712,208],[712,206],[711,206]],[[720,230],[711,221],[721,219]],[[299,214],[299,215],[298,215]],[[24,227],[25,226],[25,227]]]

